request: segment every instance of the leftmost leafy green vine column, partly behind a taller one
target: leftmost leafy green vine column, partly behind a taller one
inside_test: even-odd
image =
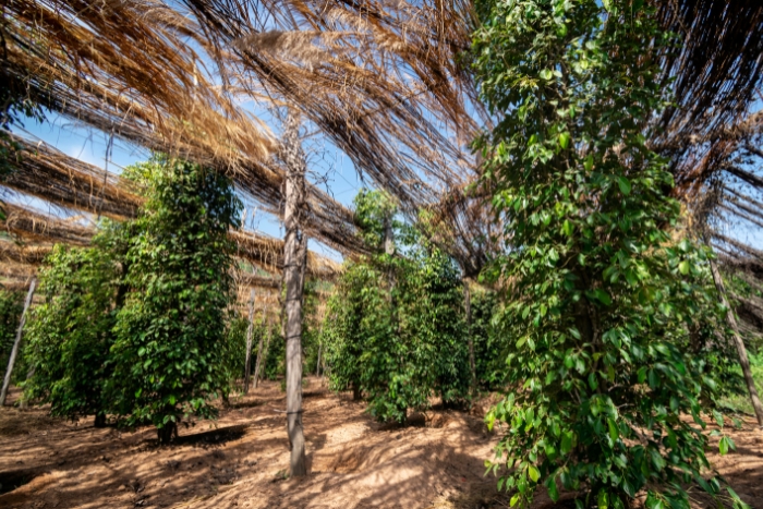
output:
[[[96,415],[98,424],[109,408],[104,388],[111,375],[107,361],[120,280],[113,255],[104,249],[105,235],[93,247],[55,247],[40,271],[45,301],[26,329],[26,357],[34,369],[26,397],[49,402],[52,415]]]

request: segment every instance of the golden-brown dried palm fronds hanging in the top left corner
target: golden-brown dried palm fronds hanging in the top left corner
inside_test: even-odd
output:
[[[194,159],[235,166],[272,150],[267,128],[205,72],[189,44],[198,28],[167,4],[10,0],[3,14],[8,63],[44,104],[98,111],[107,133],[126,120]]]

